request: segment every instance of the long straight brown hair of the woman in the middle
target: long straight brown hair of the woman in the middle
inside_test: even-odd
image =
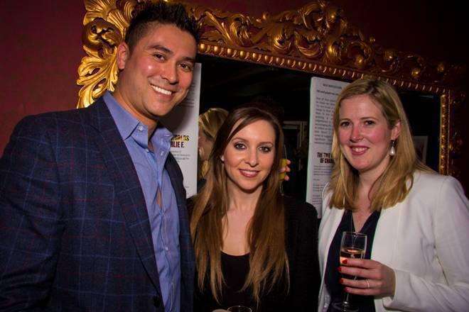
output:
[[[247,228],[249,244],[249,273],[244,282],[244,289],[251,289],[252,296],[259,303],[260,294],[271,288],[284,277],[286,289],[289,286],[289,266],[285,247],[284,204],[279,191],[279,166],[281,147],[284,143],[279,121],[269,113],[257,107],[237,108],[227,116],[225,123],[217,133],[212,154],[207,182],[194,199],[193,213],[190,219],[190,233],[193,238],[198,286],[204,288],[210,284],[212,296],[220,303],[224,282],[221,255],[223,244],[222,218],[226,216],[230,194],[227,191],[227,174],[220,156],[233,136],[242,128],[255,121],[268,121],[276,133],[274,165],[264,180],[252,220]],[[241,121],[234,128],[235,124]]]

